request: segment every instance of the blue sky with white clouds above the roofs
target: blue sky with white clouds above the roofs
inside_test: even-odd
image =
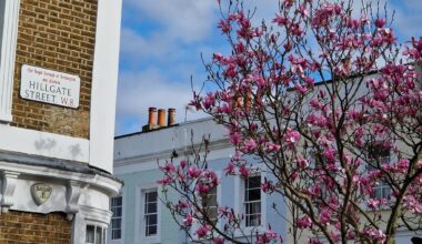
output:
[[[384,1],[395,10],[400,39],[422,35],[422,0]],[[259,21],[272,19],[278,0],[245,2],[257,6]],[[185,113],[185,105],[191,75],[197,89],[207,78],[200,54],[210,60],[229,51],[217,29],[219,18],[215,0],[123,0],[117,135],[140,131],[149,106],[175,108],[177,122],[204,115]]]

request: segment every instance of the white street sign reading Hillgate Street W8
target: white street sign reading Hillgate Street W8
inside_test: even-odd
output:
[[[20,96],[22,99],[77,109],[81,79],[78,75],[22,65]]]

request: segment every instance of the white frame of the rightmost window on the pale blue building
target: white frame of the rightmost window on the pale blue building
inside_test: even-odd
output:
[[[257,174],[261,174],[261,184],[264,183],[264,179],[267,173],[264,170],[264,165],[259,164],[253,167],[253,170],[258,170]],[[251,174],[254,176],[254,174]],[[235,214],[244,214],[244,179],[241,175],[234,176],[234,213]],[[261,225],[259,226],[245,226],[245,220],[242,222],[242,231],[247,234],[255,235],[255,232],[263,233],[267,230],[267,194],[261,190]],[[243,236],[242,233],[235,233],[237,237]]]

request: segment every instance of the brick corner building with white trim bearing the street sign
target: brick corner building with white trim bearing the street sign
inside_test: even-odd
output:
[[[104,243],[121,0],[0,1],[0,243]]]

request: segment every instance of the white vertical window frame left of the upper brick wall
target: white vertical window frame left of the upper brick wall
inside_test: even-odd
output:
[[[20,0],[2,0],[0,27],[0,122],[12,121],[14,60]],[[2,12],[3,11],[3,12]]]

